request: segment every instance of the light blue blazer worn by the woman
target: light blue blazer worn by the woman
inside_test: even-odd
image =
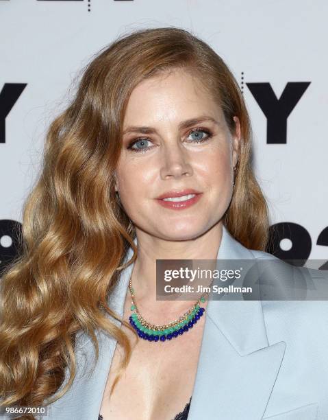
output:
[[[127,259],[132,255],[129,248]],[[245,248],[223,227],[217,259],[274,258]],[[132,268],[111,297],[120,316]],[[205,314],[188,420],[328,420],[327,301],[209,301]],[[98,419],[116,341],[97,336],[95,371],[84,373],[93,347],[80,334],[73,387],[42,418]]]

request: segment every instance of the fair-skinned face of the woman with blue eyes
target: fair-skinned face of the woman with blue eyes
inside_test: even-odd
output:
[[[240,124],[238,117],[234,120],[236,136],[220,106],[183,70],[136,86],[123,121],[115,176],[137,235],[141,229],[164,240],[191,240],[220,222],[231,200],[238,161]],[[201,193],[184,209],[163,207],[157,199],[184,189]]]

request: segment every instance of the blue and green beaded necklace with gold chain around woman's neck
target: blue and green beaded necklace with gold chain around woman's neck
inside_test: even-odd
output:
[[[135,292],[132,288],[131,278],[129,279],[129,291],[131,294],[130,309],[131,311],[134,311],[134,313],[129,316],[129,323],[137,331],[138,336],[144,340],[164,342],[165,340],[171,340],[172,338],[181,336],[197,323],[197,320],[203,316],[203,312],[205,311],[205,308],[200,307],[199,303],[205,302],[205,294],[207,294],[207,292],[203,293],[198,301],[192,305],[190,310],[185,312],[184,315],[180,316],[178,319],[175,319],[166,325],[153,325],[142,318],[138,311],[134,299]]]

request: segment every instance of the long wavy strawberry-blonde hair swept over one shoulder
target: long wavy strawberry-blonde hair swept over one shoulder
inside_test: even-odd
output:
[[[233,117],[240,119],[235,186],[223,223],[247,248],[265,250],[268,208],[251,167],[251,123],[234,75],[186,30],[160,27],[119,36],[82,69],[73,100],[50,125],[40,176],[23,205],[22,252],[1,278],[1,406],[42,406],[62,397],[76,375],[77,333],[90,334],[94,363],[98,329],[123,347],[114,385],[127,366],[132,347],[110,320],[108,315],[121,318],[108,299],[121,270],[136,260],[136,232],[115,192],[114,171],[131,91],[175,69],[201,80],[231,133]],[[124,264],[130,246],[134,254]]]

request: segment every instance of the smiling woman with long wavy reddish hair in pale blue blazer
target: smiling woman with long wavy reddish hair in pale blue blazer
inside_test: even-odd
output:
[[[2,278],[2,404],[327,419],[323,302],[156,300],[156,259],[274,258],[250,159],[238,84],[202,40],[164,27],[101,51],[51,124]]]

